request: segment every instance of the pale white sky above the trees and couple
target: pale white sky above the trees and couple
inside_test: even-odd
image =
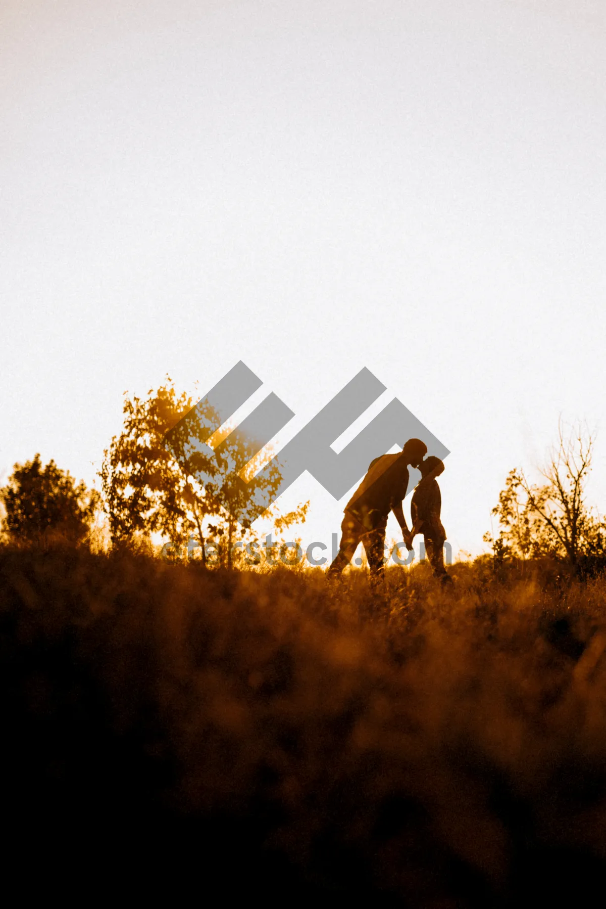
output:
[[[605,98],[603,0],[3,0],[0,482],[93,484],[167,374],[243,360],[279,447],[365,366],[366,422],[398,397],[451,451],[454,554],[560,416],[606,512]],[[283,506],[329,542],[347,497]]]

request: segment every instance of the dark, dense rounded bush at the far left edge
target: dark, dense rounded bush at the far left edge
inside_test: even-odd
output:
[[[99,494],[61,470],[55,461],[44,467],[40,454],[15,464],[8,484],[0,489],[5,506],[5,533],[14,540],[40,544],[64,540],[76,544],[89,533]]]

